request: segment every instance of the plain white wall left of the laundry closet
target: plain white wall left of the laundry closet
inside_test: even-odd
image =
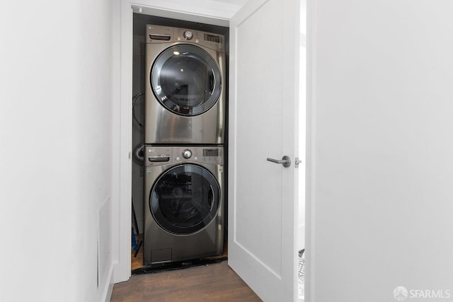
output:
[[[108,296],[110,6],[1,5],[0,301]]]

